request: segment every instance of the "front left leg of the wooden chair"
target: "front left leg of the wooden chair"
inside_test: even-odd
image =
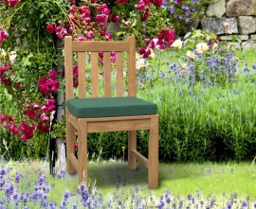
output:
[[[79,183],[87,183],[87,131],[86,124],[78,125]]]

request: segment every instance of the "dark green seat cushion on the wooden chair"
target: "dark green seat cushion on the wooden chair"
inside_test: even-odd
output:
[[[157,112],[153,102],[137,97],[73,98],[67,109],[78,118],[150,115]]]

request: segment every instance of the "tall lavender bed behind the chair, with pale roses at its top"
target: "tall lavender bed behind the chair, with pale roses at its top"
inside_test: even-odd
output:
[[[200,33],[196,37],[201,35],[205,36]],[[214,37],[203,37],[210,38]],[[140,91],[139,96],[158,103],[163,161],[242,160],[254,156],[255,64],[244,62],[242,66],[226,45],[213,43],[196,40],[192,44],[195,49],[179,62],[170,61],[172,53],[167,55],[167,67],[160,68],[155,85],[155,67],[146,66],[146,76],[138,77],[140,90],[150,89]],[[139,135],[142,152],[147,149],[144,134]]]

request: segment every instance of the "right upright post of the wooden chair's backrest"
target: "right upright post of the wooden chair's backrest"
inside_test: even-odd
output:
[[[136,77],[136,40],[129,37],[128,52],[128,96],[137,96],[137,77]]]

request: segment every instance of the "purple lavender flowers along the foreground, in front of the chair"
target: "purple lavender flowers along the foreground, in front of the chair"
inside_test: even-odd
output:
[[[58,190],[46,175],[46,167],[31,169],[31,163],[24,159],[12,166],[1,157],[0,168],[0,208],[256,208],[256,201],[247,197],[239,198],[236,193],[222,198],[205,196],[200,192],[187,196],[175,196],[168,189],[159,197],[153,192],[143,195],[140,185],[127,187],[118,176],[118,184],[113,194],[103,196],[96,185],[89,189],[80,184],[77,189]],[[15,167],[30,167],[28,172],[20,172]],[[202,171],[203,172],[203,171]],[[229,172],[234,172],[230,167]],[[56,176],[55,183],[65,183],[65,173]],[[62,199],[54,199],[50,194],[60,193]]]

